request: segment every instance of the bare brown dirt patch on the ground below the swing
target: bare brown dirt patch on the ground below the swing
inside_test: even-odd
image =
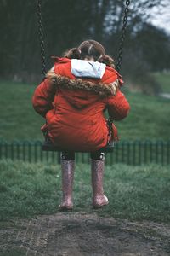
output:
[[[1,256],[170,255],[170,225],[56,213],[1,223]]]

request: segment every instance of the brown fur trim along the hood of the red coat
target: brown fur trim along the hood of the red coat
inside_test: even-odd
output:
[[[111,84],[94,84],[93,82],[82,79],[69,79],[54,73],[52,70],[47,73],[46,78],[49,80],[50,84],[62,87],[62,89],[87,90],[101,97],[115,96],[119,88],[118,79]]]

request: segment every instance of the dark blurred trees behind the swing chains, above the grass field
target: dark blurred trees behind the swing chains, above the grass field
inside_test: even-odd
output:
[[[149,23],[152,10],[166,0],[132,1],[123,50],[122,75],[133,88],[144,93],[161,91],[155,76],[170,67],[170,36]],[[105,45],[115,60],[122,30],[125,1],[122,0],[42,0],[47,69],[51,55],[62,55],[87,38]],[[0,77],[35,83],[41,78],[37,38],[36,1],[0,2]]]

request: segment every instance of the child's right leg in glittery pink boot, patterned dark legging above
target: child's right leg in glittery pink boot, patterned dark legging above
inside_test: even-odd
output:
[[[105,167],[105,154],[99,151],[91,154],[91,171],[92,171],[92,189],[93,189],[93,206],[103,207],[108,204],[108,199],[104,195],[103,175]]]

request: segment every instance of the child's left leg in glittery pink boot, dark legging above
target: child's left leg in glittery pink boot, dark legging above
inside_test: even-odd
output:
[[[61,154],[61,172],[62,172],[62,201],[59,210],[71,210],[72,202],[72,186],[74,179],[75,153],[65,152]]]

